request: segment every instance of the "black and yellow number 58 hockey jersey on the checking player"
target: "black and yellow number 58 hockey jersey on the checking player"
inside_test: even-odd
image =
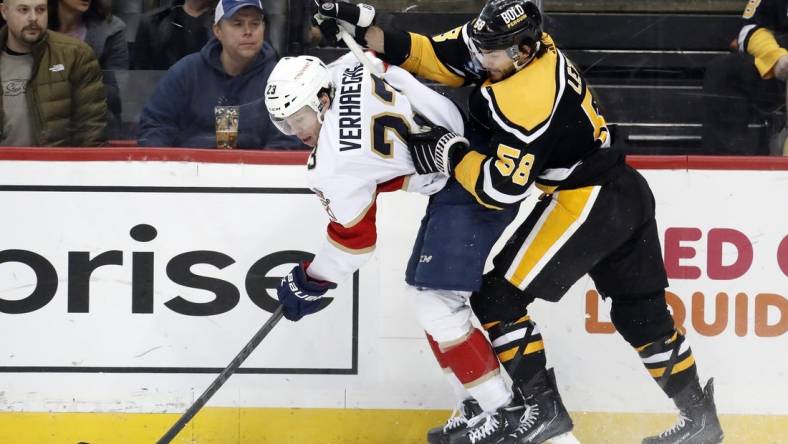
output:
[[[449,86],[476,85],[470,113],[489,144],[472,146],[457,164],[463,187],[482,205],[502,208],[525,199],[534,182],[547,192],[605,182],[622,156],[606,149],[610,135],[596,100],[550,36],[538,58],[492,83],[472,54],[467,27],[431,38],[411,33],[409,45],[399,41],[407,46],[401,60],[398,42],[386,35],[389,60],[408,71]]]

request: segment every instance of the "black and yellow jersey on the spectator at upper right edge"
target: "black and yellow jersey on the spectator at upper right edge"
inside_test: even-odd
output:
[[[738,47],[755,58],[755,67],[764,79],[774,77],[777,60],[788,54],[788,0],[750,0],[742,14]]]

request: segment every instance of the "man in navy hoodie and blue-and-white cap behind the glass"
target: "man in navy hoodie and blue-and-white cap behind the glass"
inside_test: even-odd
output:
[[[216,38],[176,63],[148,99],[139,145],[216,147],[215,108],[237,106],[238,148],[305,148],[276,129],[263,103],[276,56],[263,41],[259,0],[223,0],[214,21]]]

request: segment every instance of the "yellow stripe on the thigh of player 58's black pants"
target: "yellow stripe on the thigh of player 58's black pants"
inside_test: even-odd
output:
[[[510,282],[523,287],[523,281],[536,267],[536,264],[547,254],[550,248],[561,239],[561,236],[577,221],[588,204],[594,187],[564,190],[555,194],[556,204],[547,219],[536,233],[527,250],[518,259],[517,268]]]

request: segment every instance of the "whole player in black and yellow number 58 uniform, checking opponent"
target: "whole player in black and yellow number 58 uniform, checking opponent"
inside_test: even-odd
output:
[[[520,404],[494,412],[494,421],[471,421],[460,434],[454,428],[447,441],[541,443],[572,429],[528,305],[558,301],[589,274],[611,299],[618,332],[680,410],[671,429],[643,442],[721,442],[712,381],[701,387],[695,357],[665,301],[651,189],[607,149],[610,134],[594,95],[542,32],[538,8],[490,0],[474,20],[432,37],[369,26],[370,8],[321,5],[321,19],[337,19],[359,43],[420,77],[474,86],[471,120],[485,143],[458,141],[440,127],[411,134],[417,170],[454,177],[488,208],[519,204],[531,185],[542,192],[471,298]],[[507,434],[486,433],[491,428]]]

